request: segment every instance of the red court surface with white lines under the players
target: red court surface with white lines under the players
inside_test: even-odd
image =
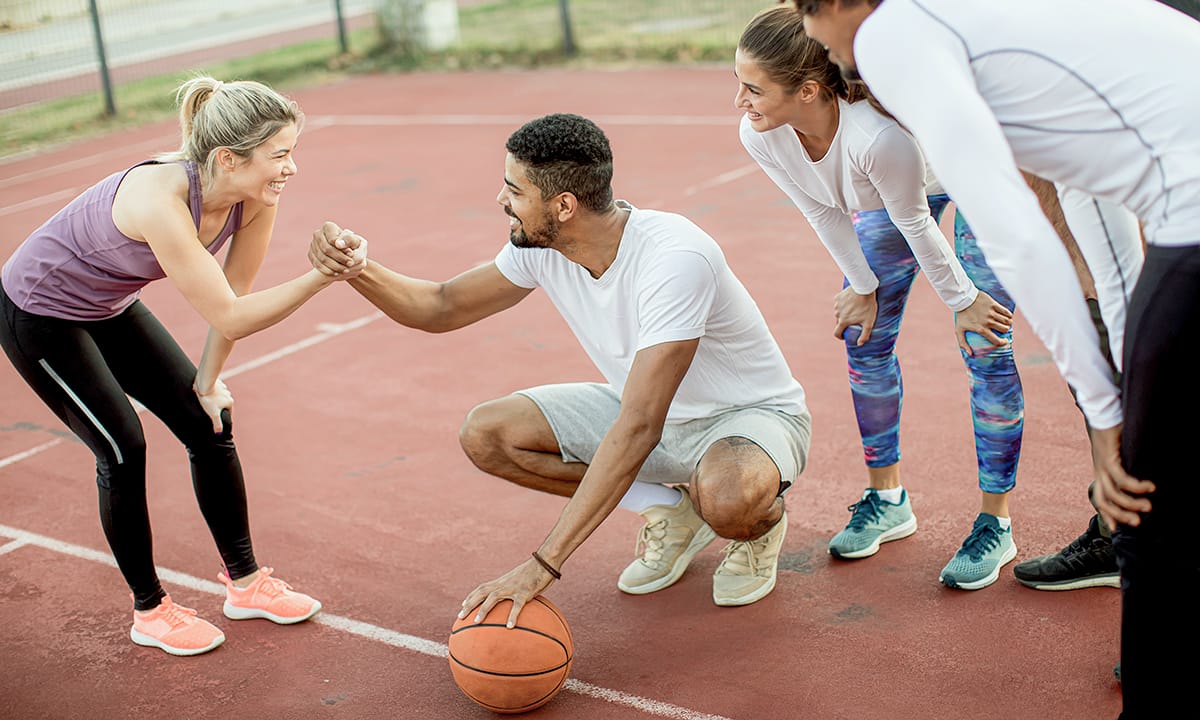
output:
[[[737,137],[728,67],[361,77],[295,94],[308,115],[259,278],[301,274],[332,220],[371,256],[444,280],[506,241],[494,203],[504,140],[575,112],[606,128],[618,197],[682,212],[725,248],[814,416],[790,492],[779,584],[712,602],[714,544],[676,586],[622,594],[641,523],[618,510],[547,595],[576,642],[547,719],[1115,718],[1117,590],[1039,593],[1010,565],[979,592],[937,574],[978,511],[967,379],[950,313],[919,280],[900,341],[904,479],[920,522],[875,557],[826,553],[865,485],[845,354],[832,338],[840,275]],[[178,143],[163,124],[0,166],[0,256],[71,196]],[[198,356],[206,326],[168,282],[144,300]],[[1020,318],[1020,316],[1019,316]],[[1091,514],[1084,424],[1024,320],[1026,434],[1013,494],[1018,559],[1061,547]],[[221,614],[220,559],[184,450],[144,415],[164,587],[228,637],[172,658],[128,641],[127,590],[96,512],[92,460],[0,364],[0,716],[11,719],[482,719],[454,685],[445,641],[462,598],[523,562],[563,505],[476,470],[457,430],[476,403],[528,385],[599,379],[541,294],[425,335],[335,286],[238,343],[235,437],[262,563],[325,605],[299,626]]]

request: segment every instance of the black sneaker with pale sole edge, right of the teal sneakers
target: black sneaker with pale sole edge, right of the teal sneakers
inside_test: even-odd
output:
[[[1100,534],[1100,516],[1093,515],[1087,530],[1058,552],[1013,566],[1013,575],[1037,590],[1120,588],[1121,572],[1112,540]]]

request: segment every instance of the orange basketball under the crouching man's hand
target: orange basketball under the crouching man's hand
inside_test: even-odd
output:
[[[512,601],[503,600],[481,623],[474,613],[450,629],[450,673],[463,694],[493,713],[524,713],[558,695],[571,670],[575,643],[562,611],[538,595],[505,624]]]

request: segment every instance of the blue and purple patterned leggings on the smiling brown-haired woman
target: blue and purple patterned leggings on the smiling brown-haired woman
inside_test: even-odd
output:
[[[929,198],[935,218],[941,218],[948,202],[947,196]],[[871,338],[858,347],[856,343],[862,331],[858,325],[847,329],[844,335],[850,362],[850,390],[866,464],[882,468],[900,462],[904,380],[895,344],[908,293],[920,266],[904,235],[892,224],[887,210],[856,212],[854,230],[868,264],[880,278],[880,287],[875,292],[878,317]],[[954,248],[976,287],[1013,310],[1013,299],[996,280],[976,245],[974,234],[958,212],[954,217]],[[844,280],[842,287],[846,284]],[[1012,341],[1012,332],[1001,337]],[[1016,463],[1021,454],[1025,422],[1021,378],[1016,372],[1012,344],[992,348],[974,332],[967,332],[967,343],[976,348],[972,354],[961,354],[971,388],[979,488],[990,493],[1008,492],[1016,485]]]

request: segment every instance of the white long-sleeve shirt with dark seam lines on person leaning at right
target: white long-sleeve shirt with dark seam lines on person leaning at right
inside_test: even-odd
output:
[[[1152,0],[887,0],[854,58],[1088,420],[1120,424],[1070,259],[1018,167],[1129,208],[1150,244],[1200,242],[1200,25]]]

